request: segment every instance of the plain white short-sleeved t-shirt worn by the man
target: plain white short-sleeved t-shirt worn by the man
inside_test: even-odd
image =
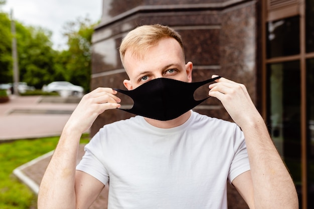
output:
[[[227,180],[250,169],[240,128],[193,111],[169,129],[141,116],[105,125],[85,151],[77,169],[109,181],[108,208],[227,208]]]

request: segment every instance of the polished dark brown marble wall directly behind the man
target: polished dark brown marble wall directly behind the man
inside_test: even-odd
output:
[[[257,88],[257,14],[254,0],[104,0],[103,16],[92,38],[91,89],[125,89],[128,79],[120,62],[118,47],[128,31],[139,25],[163,24],[182,36],[186,61],[193,62],[193,81],[224,76],[246,85],[253,101]],[[207,95],[204,86],[196,98]],[[122,105],[132,102],[119,95]],[[210,98],[194,109],[212,117],[231,120],[220,101]],[[132,116],[108,110],[91,127],[94,135],[104,124]],[[247,208],[232,186],[228,189],[229,208]]]

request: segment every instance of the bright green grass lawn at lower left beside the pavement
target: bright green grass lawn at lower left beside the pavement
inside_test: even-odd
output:
[[[16,140],[0,143],[0,209],[37,208],[37,196],[13,174],[13,170],[53,149],[59,137]],[[81,143],[87,143],[84,134]]]

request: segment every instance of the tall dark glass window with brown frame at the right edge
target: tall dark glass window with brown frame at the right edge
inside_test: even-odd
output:
[[[297,186],[299,208],[314,208],[314,1],[267,2],[263,113]]]

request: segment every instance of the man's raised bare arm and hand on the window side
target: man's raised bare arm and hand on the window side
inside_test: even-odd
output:
[[[232,183],[250,208],[298,208],[292,178],[245,86],[221,78],[210,89],[244,133],[251,171]]]

